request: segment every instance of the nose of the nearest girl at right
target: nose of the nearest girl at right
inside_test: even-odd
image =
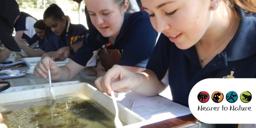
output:
[[[164,16],[155,16],[155,29],[157,32],[163,32],[170,28],[168,21],[165,19]]]

